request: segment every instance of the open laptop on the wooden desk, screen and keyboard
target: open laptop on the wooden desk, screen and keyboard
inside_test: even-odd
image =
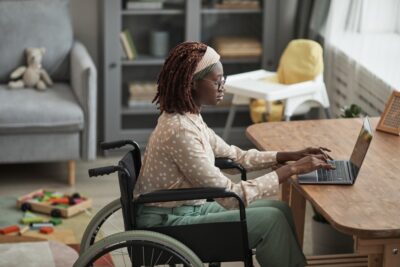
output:
[[[371,141],[371,124],[368,117],[365,117],[350,160],[328,160],[328,163],[335,165],[336,169],[319,169],[310,173],[301,174],[298,176],[298,182],[300,184],[354,184]]]

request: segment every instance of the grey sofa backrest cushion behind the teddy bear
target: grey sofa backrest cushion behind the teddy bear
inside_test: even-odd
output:
[[[42,65],[50,77],[69,79],[73,32],[68,0],[1,0],[0,36],[0,83],[26,65],[27,47],[45,47]]]

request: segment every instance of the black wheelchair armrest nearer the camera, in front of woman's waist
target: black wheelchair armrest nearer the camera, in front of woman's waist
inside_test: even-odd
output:
[[[210,198],[228,198],[233,197],[239,203],[240,220],[246,220],[245,205],[243,200],[234,192],[227,191],[223,187],[197,187],[157,190],[147,194],[140,195],[134,201],[135,204],[182,201]]]

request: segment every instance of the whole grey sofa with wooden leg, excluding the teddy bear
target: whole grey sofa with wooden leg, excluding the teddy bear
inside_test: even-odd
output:
[[[96,157],[97,72],[68,0],[0,0],[0,36],[0,163],[66,161],[72,185],[76,160]],[[44,92],[8,88],[27,47],[46,48]]]

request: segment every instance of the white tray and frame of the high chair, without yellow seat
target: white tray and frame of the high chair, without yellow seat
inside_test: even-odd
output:
[[[233,99],[222,135],[224,140],[227,140],[232,128],[236,106],[248,105],[250,98],[284,101],[284,118],[286,121],[290,120],[293,115],[308,112],[311,107],[315,106],[315,103],[325,109],[327,118],[331,118],[329,98],[322,74],[312,81],[290,85],[263,81],[263,79],[274,75],[276,75],[276,72],[256,70],[228,76],[225,90],[227,93],[233,94]]]

